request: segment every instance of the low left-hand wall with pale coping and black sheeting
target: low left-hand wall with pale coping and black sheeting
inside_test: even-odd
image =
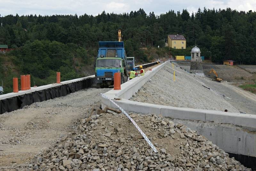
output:
[[[83,79],[75,79],[63,82],[61,84],[52,84],[40,86],[19,93],[10,93],[3,95],[0,100],[0,114],[12,112],[21,109],[26,105],[31,105],[35,102],[42,102],[56,97],[66,96],[70,93],[92,87],[92,77]]]

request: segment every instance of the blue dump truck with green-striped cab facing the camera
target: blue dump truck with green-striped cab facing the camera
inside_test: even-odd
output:
[[[114,74],[121,73],[121,84],[127,82],[129,68],[124,42],[99,42],[95,67],[97,88],[114,85]]]

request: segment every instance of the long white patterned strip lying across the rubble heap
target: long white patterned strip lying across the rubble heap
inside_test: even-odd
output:
[[[147,141],[147,143],[150,145],[150,147],[154,150],[155,153],[158,153],[158,151],[156,150],[156,147],[151,143],[151,141],[148,139],[148,137],[146,136],[146,134],[144,134],[144,132],[140,129],[140,127],[137,125],[137,123],[131,118],[131,116],[129,116],[122,107],[120,107],[119,105],[117,105],[113,100],[111,100],[110,98],[108,98],[107,96],[105,96],[104,94],[100,93],[102,97],[107,98],[110,102],[112,102],[114,105],[116,105],[126,116],[127,118],[129,118],[131,120],[131,122],[133,123],[133,125],[138,129],[138,131],[140,132],[140,134],[143,136],[143,138]]]

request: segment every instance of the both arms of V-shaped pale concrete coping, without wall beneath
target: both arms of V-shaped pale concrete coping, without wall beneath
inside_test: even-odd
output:
[[[138,92],[138,90],[167,63],[169,62],[165,62],[152,69],[152,71],[146,72],[145,76],[136,77],[130,80],[129,82],[125,82],[121,85],[121,90],[110,90],[107,93],[105,93],[105,95],[111,99],[114,99],[115,97],[122,98],[121,100],[116,100],[115,102],[127,112],[143,114],[153,113],[156,115],[162,115],[164,117],[170,117],[174,119],[201,120],[204,122],[209,121],[214,123],[228,123],[247,128],[256,127],[256,115],[252,114],[227,113],[221,111],[192,108],[179,108],[172,106],[134,102],[128,100],[132,97],[132,95]],[[104,99],[103,97],[101,97],[101,99],[102,107],[105,107],[106,105],[116,107],[113,106],[107,99]]]

